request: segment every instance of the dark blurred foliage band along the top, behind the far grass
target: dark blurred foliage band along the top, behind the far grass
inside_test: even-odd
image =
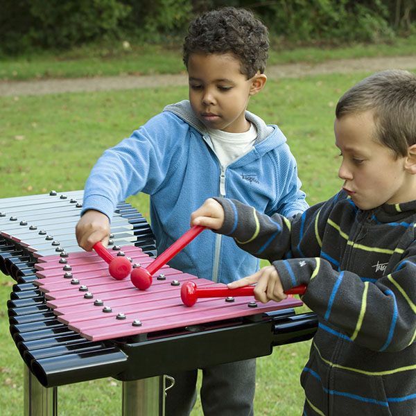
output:
[[[180,42],[221,6],[250,8],[280,42],[385,42],[416,31],[415,0],[2,0],[0,51],[69,49],[97,40]]]

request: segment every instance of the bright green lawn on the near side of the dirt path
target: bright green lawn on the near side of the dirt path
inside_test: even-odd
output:
[[[250,110],[277,123],[297,157],[303,189],[311,204],[340,187],[333,146],[333,112],[340,94],[366,74],[326,75],[271,81],[252,99]],[[184,87],[120,92],[0,97],[0,198],[83,189],[102,151],[157,114],[164,105],[186,98]],[[148,198],[130,202],[148,216]],[[8,333],[6,301],[10,277],[0,275],[1,414],[21,415],[22,361]],[[257,415],[299,415],[303,404],[300,371],[308,343],[276,347],[259,358]],[[105,390],[105,394],[103,393]],[[59,388],[60,415],[121,413],[120,383],[103,379]],[[201,415],[198,404],[193,416]]]

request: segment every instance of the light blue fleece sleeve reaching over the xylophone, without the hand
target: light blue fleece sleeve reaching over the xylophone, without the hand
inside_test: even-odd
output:
[[[167,117],[165,113],[153,117],[128,139],[105,150],[85,184],[81,214],[95,209],[111,219],[119,201],[140,191],[155,192],[174,150]]]

